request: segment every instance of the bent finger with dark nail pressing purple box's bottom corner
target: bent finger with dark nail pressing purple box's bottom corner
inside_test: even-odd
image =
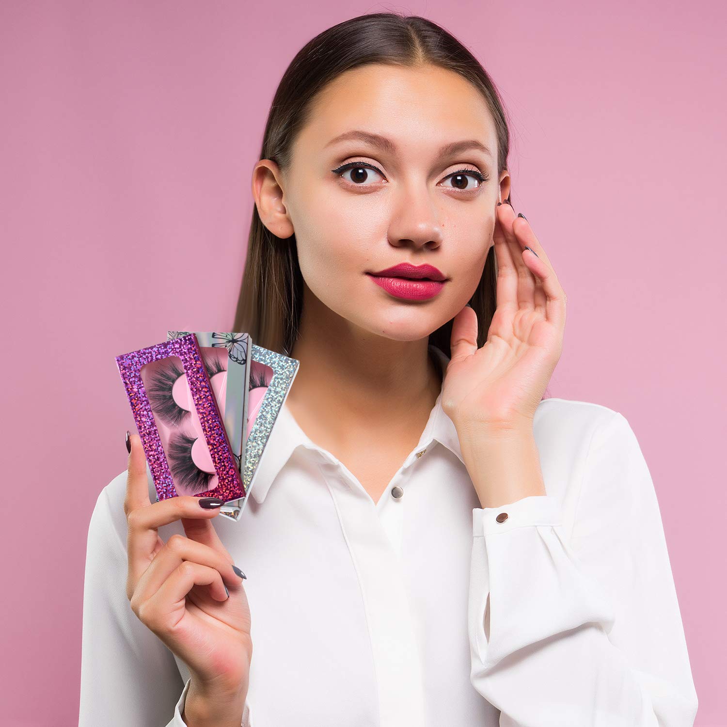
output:
[[[126,516],[128,523],[126,551],[129,558],[127,593],[129,591],[133,593],[137,582],[156,555],[155,549],[159,539],[158,528],[174,523],[181,518],[211,520],[219,513],[218,507],[212,510],[200,507],[199,498],[193,497],[193,495],[169,497],[132,510]]]

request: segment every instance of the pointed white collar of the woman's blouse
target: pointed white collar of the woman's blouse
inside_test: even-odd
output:
[[[449,356],[440,348],[433,344],[429,345],[429,350],[433,354],[435,362],[440,366],[442,379],[446,374],[446,367],[449,364]],[[405,462],[409,465],[413,459],[416,459],[416,452],[426,449],[433,441],[438,441],[447,449],[457,455],[459,461],[462,460],[462,450],[459,447],[459,437],[454,423],[442,409],[441,406],[442,392],[439,391],[437,400],[429,414],[427,425],[419,438],[416,449],[412,452],[409,459]],[[308,449],[318,459],[326,462],[338,462],[329,451],[322,449],[315,442],[310,440],[305,432],[300,428],[295,418],[284,402],[278,414],[273,429],[270,431],[267,443],[262,450],[260,462],[255,470],[252,486],[249,494],[254,497],[257,502],[262,502],[268,494],[270,486],[275,481],[278,473],[287,464],[294,451],[299,448]]]

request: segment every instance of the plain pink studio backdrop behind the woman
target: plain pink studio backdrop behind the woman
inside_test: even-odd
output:
[[[281,74],[324,28],[392,8],[502,90],[513,204],[569,296],[550,393],[634,428],[696,724],[727,724],[725,4],[4,0],[1,725],[77,723],[87,528],[132,425],[113,357],[229,329]]]

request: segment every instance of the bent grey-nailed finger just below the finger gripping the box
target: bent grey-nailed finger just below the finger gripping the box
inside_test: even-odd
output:
[[[142,574],[134,590],[134,596],[142,602],[147,601],[184,561],[214,569],[220,574],[220,578],[232,587],[237,587],[242,582],[233,571],[233,564],[222,553],[175,533]]]

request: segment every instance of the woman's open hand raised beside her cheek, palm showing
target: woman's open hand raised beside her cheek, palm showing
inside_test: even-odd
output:
[[[497,310],[485,345],[469,306],[452,324],[442,406],[458,430],[531,427],[563,350],[566,294],[529,222],[498,204],[493,238]]]

